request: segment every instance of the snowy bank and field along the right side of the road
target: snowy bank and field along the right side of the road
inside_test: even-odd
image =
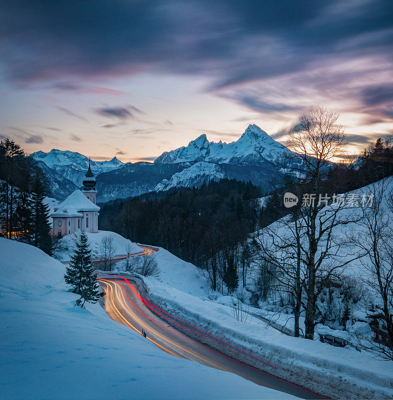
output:
[[[151,299],[174,315],[205,328],[221,338],[283,367],[276,371],[327,396],[392,398],[393,362],[380,361],[367,352],[334,347],[281,334],[265,322],[234,318],[228,296],[208,298],[200,270],[164,249],[153,255],[161,271],[159,279],[144,277]],[[257,309],[256,309],[257,310]]]

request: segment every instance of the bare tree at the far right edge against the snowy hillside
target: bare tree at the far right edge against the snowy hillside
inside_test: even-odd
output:
[[[392,176],[369,186],[373,204],[362,207],[362,219],[353,238],[367,254],[361,259],[362,280],[376,299],[378,329],[385,343],[370,340],[370,348],[393,359],[393,191]]]

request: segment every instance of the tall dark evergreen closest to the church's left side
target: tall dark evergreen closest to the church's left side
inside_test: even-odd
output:
[[[46,194],[44,177],[36,173],[32,187],[32,230],[34,246],[52,255],[52,239],[50,237],[49,207],[43,200]]]

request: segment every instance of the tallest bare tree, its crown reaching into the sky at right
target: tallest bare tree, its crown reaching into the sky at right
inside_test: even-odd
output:
[[[340,275],[345,265],[358,258],[351,252],[345,259],[340,257],[347,243],[335,237],[339,226],[356,221],[350,212],[341,212],[345,208],[345,196],[338,202],[336,197],[322,192],[330,161],[343,154],[348,143],[343,127],[337,125],[338,117],[326,108],[311,108],[289,132],[288,147],[293,152],[288,157],[288,165],[304,201],[292,216],[279,221],[281,237],[276,226],[263,229],[257,239],[258,256],[277,266],[282,272],[279,278],[291,277],[287,287],[296,298],[295,334],[299,334],[300,305],[303,305],[308,339],[314,338],[316,303],[321,290]]]

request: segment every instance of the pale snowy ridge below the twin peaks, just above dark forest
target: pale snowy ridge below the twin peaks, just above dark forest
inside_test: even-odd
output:
[[[212,162],[199,161],[188,168],[183,169],[172,175],[170,180],[163,179],[154,188],[155,191],[168,190],[172,187],[191,187],[200,186],[210,180],[222,179],[224,172],[218,164]]]

